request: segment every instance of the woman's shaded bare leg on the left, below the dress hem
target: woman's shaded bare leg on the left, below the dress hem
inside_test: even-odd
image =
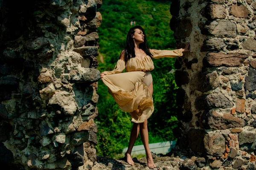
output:
[[[134,144],[136,142],[136,139],[139,135],[140,132],[140,124],[138,123],[134,123],[131,129],[131,135],[130,135],[130,140],[129,140],[129,145],[128,145],[128,149],[125,153],[125,157],[127,159],[127,163],[130,165],[134,164],[134,161],[131,158],[131,150],[134,147]]]

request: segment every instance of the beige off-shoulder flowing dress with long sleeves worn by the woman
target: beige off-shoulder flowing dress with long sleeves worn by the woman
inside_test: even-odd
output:
[[[183,49],[177,50],[151,50],[152,58],[180,57]],[[122,71],[126,69],[125,73]],[[108,86],[110,94],[122,111],[130,112],[131,121],[142,123],[154,111],[153,98],[148,86],[153,81],[150,71],[154,63],[149,56],[143,59],[137,57],[129,59],[126,63],[119,59],[113,71],[104,71],[102,81]],[[138,111],[137,111],[138,110]]]

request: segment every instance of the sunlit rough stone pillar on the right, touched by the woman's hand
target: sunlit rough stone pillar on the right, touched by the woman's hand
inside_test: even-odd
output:
[[[177,48],[176,150],[212,168],[255,169],[256,1],[177,0],[170,8]],[[197,164],[199,167],[204,164]]]

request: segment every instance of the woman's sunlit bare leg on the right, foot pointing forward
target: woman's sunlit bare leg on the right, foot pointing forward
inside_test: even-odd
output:
[[[148,120],[145,120],[143,123],[140,123],[140,137],[145,148],[148,167],[154,168],[156,167],[156,165],[154,164],[148,145]]]

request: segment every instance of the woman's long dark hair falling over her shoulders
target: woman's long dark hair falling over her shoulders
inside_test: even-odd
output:
[[[127,38],[126,38],[126,49],[123,51],[125,53],[125,62],[127,62],[129,59],[135,57],[135,45],[134,45],[134,40],[132,38],[132,35],[135,32],[135,29],[140,29],[143,34],[144,34],[144,42],[140,43],[139,48],[142,49],[148,56],[152,56],[151,52],[149,51],[148,48],[148,43],[147,43],[147,37],[145,35],[144,29],[141,26],[134,26],[132,27],[128,33],[127,33]]]

